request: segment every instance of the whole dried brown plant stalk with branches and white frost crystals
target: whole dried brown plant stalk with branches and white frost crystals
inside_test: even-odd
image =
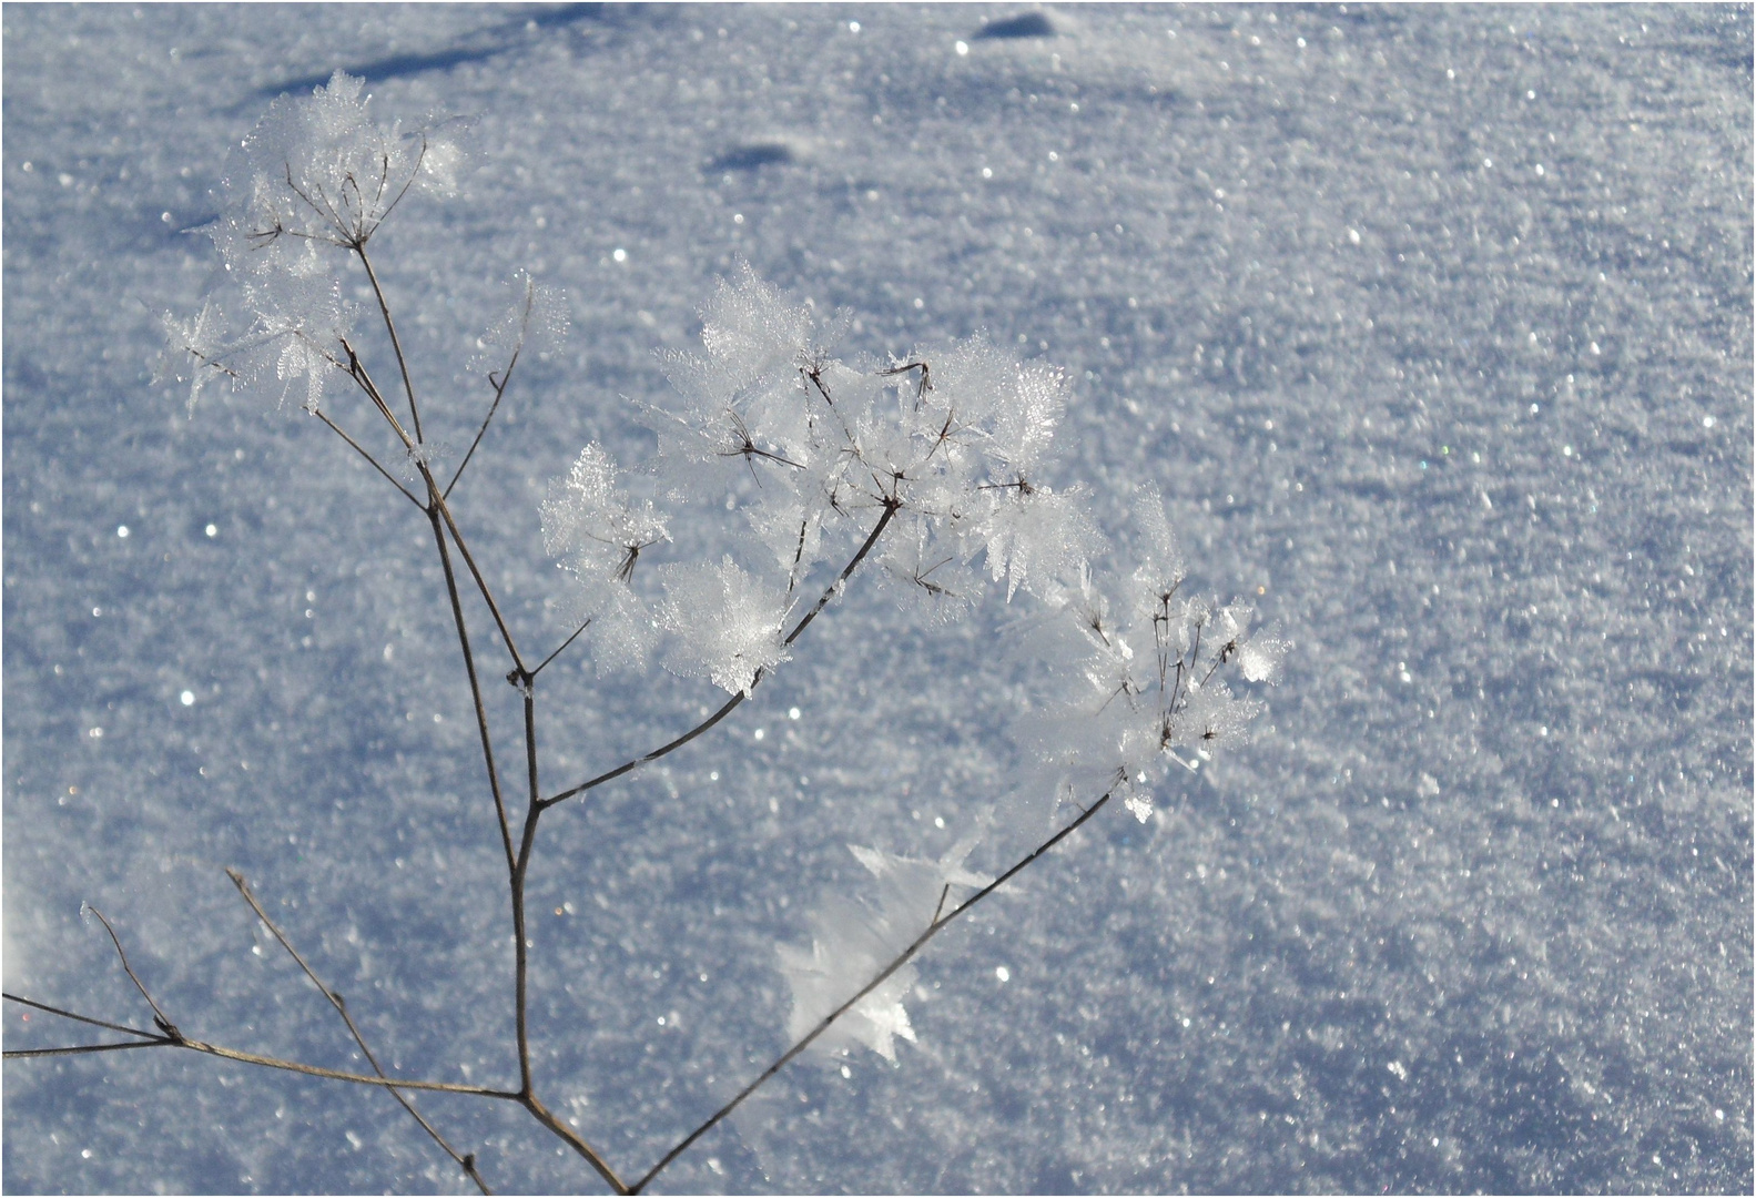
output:
[[[241,148],[241,163],[220,190],[223,214],[212,239],[227,286],[188,318],[165,318],[169,374],[188,386],[193,415],[212,383],[279,388],[297,395],[379,476],[420,509],[444,574],[464,678],[504,854],[515,945],[518,1077],[474,1086],[388,1073],[342,996],[325,984],[293,940],[228,871],[241,898],[346,1022],[371,1073],[335,1070],[207,1043],[160,1010],[128,966],[123,938],[102,920],[118,957],[151,1008],[151,1028],[93,1019],[56,1003],[7,994],[7,1001],[126,1036],[56,1049],[9,1050],[7,1059],[128,1049],[174,1049],[263,1068],[290,1070],[390,1093],[483,1191],[476,1156],[455,1147],[423,1115],[425,1091],[516,1103],[583,1158],[616,1193],[641,1193],[695,1140],[739,1107],[801,1052],[866,1045],[896,1059],[896,1040],[913,1040],[903,996],[913,961],[952,922],[994,894],[1062,840],[1120,799],[1141,820],[1166,769],[1199,761],[1243,734],[1259,703],[1240,699],[1226,675],[1273,682],[1284,638],[1250,636],[1250,608],[1182,594],[1184,564],[1157,492],[1134,497],[1129,543],[1138,569],[1106,590],[1092,559],[1105,539],[1078,488],[1055,490],[1048,464],[1066,402],[1066,381],[1043,364],[1018,364],[985,339],[946,351],[917,351],[883,365],[832,357],[846,321],[822,323],[790,304],[748,267],[722,281],[702,311],[702,353],[666,358],[676,397],[641,404],[657,436],[655,499],[636,499],[599,444],[587,444],[565,478],[550,487],[543,530],[550,553],[572,574],[576,629],[553,652],[529,648],[453,516],[450,497],[500,411],[520,357],[560,332],[558,299],[525,278],[511,311],[483,339],[500,355],[488,371],[492,402],[450,478],[435,473],[414,369],[379,285],[371,242],[414,191],[451,188],[460,151],[444,130],[407,134],[378,125],[358,79],[337,74],[311,97],[277,100]],[[400,388],[386,390],[356,348],[360,313],[344,302],[342,274],[358,271],[376,300]],[[332,392],[358,395],[369,420],[400,446],[407,471],[392,469],[349,432]],[[753,483],[743,527],[727,534],[736,552],[718,562],[664,562],[673,520],[692,502],[715,504],[729,487]],[[866,567],[862,571],[862,567]],[[806,949],[783,945],[780,968],[792,984],[788,1047],[720,1110],[680,1133],[660,1159],[611,1163],[557,1117],[532,1073],[529,1033],[527,878],[543,817],[583,806],[597,787],[711,733],[790,657],[820,615],[857,576],[874,576],[906,610],[955,620],[1004,583],[1040,608],[1027,627],[1031,650],[1054,668],[1059,703],[1017,734],[1036,750],[1038,785],[1069,813],[997,877],[964,866],[973,841],[939,861],[855,848],[880,884],[873,901],[832,899],[817,913]],[[502,662],[479,660],[479,629],[465,618],[474,590],[497,632]],[[544,785],[537,771],[539,682],[560,653],[583,646],[597,671],[646,669],[660,660],[683,678],[725,692],[722,704],[673,740],[588,778]],[[485,689],[504,675],[522,697],[522,762],[507,766],[504,731],[490,727]],[[522,776],[520,776],[522,775]]]

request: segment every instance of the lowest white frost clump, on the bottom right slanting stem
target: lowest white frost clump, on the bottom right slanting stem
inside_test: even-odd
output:
[[[975,838],[959,841],[939,861],[901,857],[848,845],[855,861],[878,882],[867,903],[834,894],[811,917],[811,947],[780,945],[780,966],[792,987],[787,1035],[799,1040],[848,1001],[894,961],[936,917],[992,878],[964,868]],[[943,903],[943,905],[941,905]],[[813,1042],[825,1054],[862,1043],[896,1063],[896,1038],[915,1042],[903,996],[915,984],[915,966],[892,973]]]

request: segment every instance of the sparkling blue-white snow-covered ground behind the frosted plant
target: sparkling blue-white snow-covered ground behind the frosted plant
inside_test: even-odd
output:
[[[1068,367],[1057,485],[1113,525],[1155,483],[1298,641],[1252,743],[934,943],[894,1066],[801,1059],[657,1189],[1747,1193],[1751,11],[1029,12],[7,5],[5,989],[149,1019],[90,901],[184,1033],[355,1066],[235,866],[395,1070],[516,1080],[425,522],[297,406],[151,383],[228,148],[341,67],[476,119],[462,195],[374,242],[441,439],[502,281],[567,292],[457,499],[530,641],[548,480],[650,450],[622,397],[739,258],[853,351]],[[785,1047],[845,845],[936,857],[1001,797],[1017,615],[855,578],[544,820],[537,1082],[618,1168]],[[578,660],[544,776],[713,701]],[[500,1189],[597,1187],[421,1105]],[[465,1186],[385,1094],[183,1052],[11,1061],[4,1114],[16,1193]]]

